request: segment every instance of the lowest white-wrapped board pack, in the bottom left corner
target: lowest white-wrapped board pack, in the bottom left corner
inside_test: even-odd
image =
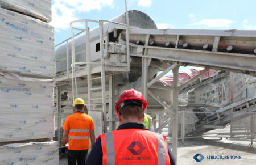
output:
[[[0,164],[59,164],[58,142],[14,143],[0,146]]]

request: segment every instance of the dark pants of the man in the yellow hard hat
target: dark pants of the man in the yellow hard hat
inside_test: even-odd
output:
[[[68,150],[68,165],[85,165],[88,150]]]

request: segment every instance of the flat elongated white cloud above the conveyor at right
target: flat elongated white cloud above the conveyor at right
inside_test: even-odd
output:
[[[200,22],[196,22],[191,25],[193,26],[204,25],[207,27],[214,27],[214,28],[219,28],[219,27],[229,28],[229,25],[231,23],[233,23],[233,21],[228,19],[203,19]]]

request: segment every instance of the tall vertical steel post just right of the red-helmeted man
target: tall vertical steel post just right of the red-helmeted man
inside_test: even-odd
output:
[[[172,121],[172,153],[174,154],[174,159],[177,164],[177,141],[178,141],[178,109],[179,109],[179,66],[175,67],[175,69],[172,70],[172,73],[174,75],[174,90],[172,91],[172,109],[175,112],[174,120]]]

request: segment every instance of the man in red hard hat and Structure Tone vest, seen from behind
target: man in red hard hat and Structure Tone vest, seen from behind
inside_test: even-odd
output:
[[[166,137],[151,132],[142,124],[147,101],[141,92],[125,90],[115,104],[120,126],[101,134],[86,161],[89,164],[172,164]]]

